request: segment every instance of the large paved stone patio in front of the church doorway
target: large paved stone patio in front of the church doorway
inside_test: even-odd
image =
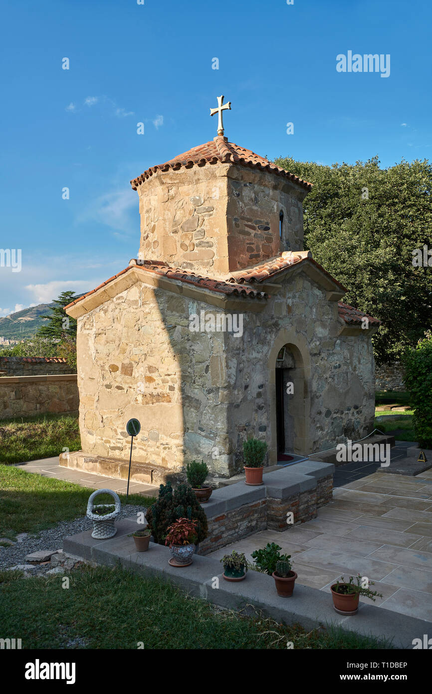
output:
[[[297,583],[330,592],[341,575],[361,573],[383,593],[377,607],[432,622],[432,471],[374,472],[334,489],[334,501],[313,521],[258,532],[209,557],[235,549],[252,560],[268,542],[291,554]]]

